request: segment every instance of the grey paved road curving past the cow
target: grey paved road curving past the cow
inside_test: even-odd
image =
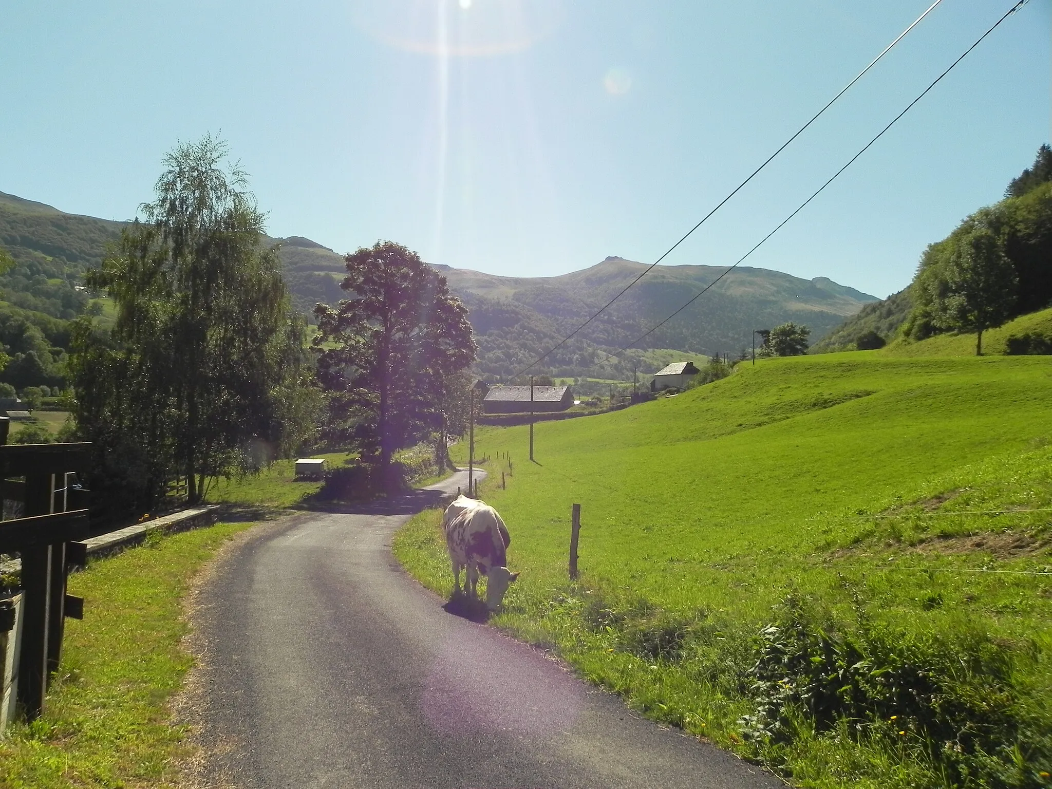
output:
[[[782,786],[447,613],[390,553],[428,495],[261,527],[208,583],[213,770],[296,789]]]

